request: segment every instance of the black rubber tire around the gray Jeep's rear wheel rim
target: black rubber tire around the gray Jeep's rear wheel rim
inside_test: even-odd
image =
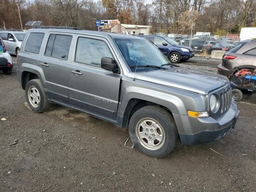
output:
[[[38,94],[40,96],[40,102],[38,104],[38,106],[33,106],[31,103],[31,99],[29,98],[28,92],[30,90],[30,88],[36,88],[36,90],[38,90]],[[50,108],[50,102],[47,100],[46,98],[46,94],[44,92],[44,89],[42,87],[42,84],[40,82],[39,79],[33,79],[30,80],[27,84],[26,84],[26,89],[25,89],[25,93],[26,93],[26,100],[28,103],[28,106],[37,113],[41,113],[44,112],[46,110],[48,110]]]

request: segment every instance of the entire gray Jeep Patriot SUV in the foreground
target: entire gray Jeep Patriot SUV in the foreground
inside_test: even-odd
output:
[[[18,80],[35,112],[60,104],[129,130],[134,146],[164,157],[222,138],[239,110],[224,76],[171,64],[148,40],[106,32],[28,30]]]

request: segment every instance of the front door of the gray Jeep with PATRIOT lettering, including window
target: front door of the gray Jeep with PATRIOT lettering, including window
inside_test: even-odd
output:
[[[110,122],[116,120],[121,75],[102,69],[102,57],[114,58],[106,39],[77,36],[68,68],[71,106]]]

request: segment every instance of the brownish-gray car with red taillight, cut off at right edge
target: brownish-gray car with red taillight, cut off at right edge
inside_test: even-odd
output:
[[[256,69],[256,40],[246,40],[223,55],[218,74],[235,74],[239,69]]]

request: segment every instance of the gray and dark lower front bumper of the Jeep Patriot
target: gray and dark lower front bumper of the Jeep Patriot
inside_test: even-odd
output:
[[[232,100],[229,110],[218,119],[173,115],[182,144],[192,146],[216,141],[225,136],[230,128],[234,128],[239,113],[236,103]]]

